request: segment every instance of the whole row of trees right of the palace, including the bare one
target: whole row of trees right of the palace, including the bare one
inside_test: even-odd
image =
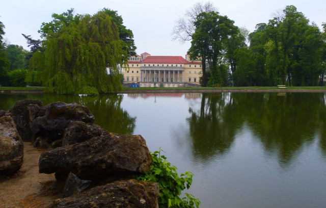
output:
[[[325,23],[321,32],[294,6],[274,16],[249,34],[211,3],[197,3],[177,20],[173,35],[191,41],[188,53],[202,58],[202,86],[323,85]]]

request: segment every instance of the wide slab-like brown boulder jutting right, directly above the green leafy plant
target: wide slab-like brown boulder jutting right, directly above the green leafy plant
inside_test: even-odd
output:
[[[141,135],[108,135],[43,152],[40,173],[70,171],[85,180],[149,172],[152,157]]]

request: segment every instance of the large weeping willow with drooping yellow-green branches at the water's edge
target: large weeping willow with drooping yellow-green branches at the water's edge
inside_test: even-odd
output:
[[[34,53],[30,71],[40,71],[39,81],[47,92],[121,90],[120,66],[127,61],[128,51],[123,49],[124,42],[112,17],[103,11],[93,16],[72,16],[72,11],[43,23],[43,51]]]

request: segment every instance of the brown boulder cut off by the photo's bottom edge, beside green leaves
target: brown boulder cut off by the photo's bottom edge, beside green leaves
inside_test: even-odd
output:
[[[51,207],[158,208],[158,196],[157,183],[134,179],[120,180],[94,187],[73,197],[57,199]]]

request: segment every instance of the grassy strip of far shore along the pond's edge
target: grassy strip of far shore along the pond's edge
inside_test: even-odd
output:
[[[326,92],[326,87],[194,87],[194,88],[124,88],[112,94],[130,93],[221,93],[221,92]],[[12,94],[41,94],[42,87],[0,87],[0,93]]]

